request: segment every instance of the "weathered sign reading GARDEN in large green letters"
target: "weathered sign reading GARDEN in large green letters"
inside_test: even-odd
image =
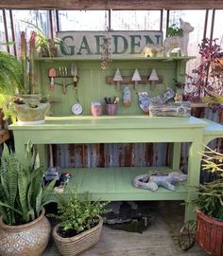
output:
[[[111,56],[137,56],[145,46],[162,46],[163,33],[156,30],[142,31],[60,31],[57,33],[67,46],[61,46],[59,56],[90,57],[101,55],[103,38],[111,40]]]

